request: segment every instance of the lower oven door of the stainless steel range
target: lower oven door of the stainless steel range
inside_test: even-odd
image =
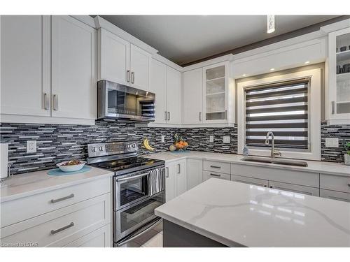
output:
[[[141,201],[131,208],[120,212],[120,233],[127,231],[137,224],[144,223],[154,217],[154,210],[164,203],[164,193]]]

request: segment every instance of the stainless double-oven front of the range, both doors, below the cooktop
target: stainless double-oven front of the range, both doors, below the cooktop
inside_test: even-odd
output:
[[[155,184],[158,190],[154,190]],[[164,185],[164,166],[113,177],[114,242],[158,218],[154,210],[165,203]]]

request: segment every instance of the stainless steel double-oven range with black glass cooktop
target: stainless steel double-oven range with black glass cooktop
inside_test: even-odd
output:
[[[114,172],[113,242],[125,246],[160,223],[154,210],[165,203],[165,162],[137,157],[135,142],[87,145],[87,163]]]

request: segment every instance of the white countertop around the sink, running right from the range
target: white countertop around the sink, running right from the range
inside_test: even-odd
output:
[[[187,151],[185,153],[173,153],[173,152],[160,152],[155,154],[147,154],[144,157],[151,159],[160,159],[165,162],[177,161],[180,159],[204,159],[210,161],[221,161],[221,162],[230,162],[237,163],[248,166],[268,166],[272,168],[279,169],[288,169],[288,170],[300,170],[304,172],[314,172],[314,173],[323,173],[330,175],[344,175],[350,176],[350,166],[345,166],[343,163],[330,163],[325,161],[305,161],[308,166],[286,166],[286,165],[277,165],[273,163],[258,163],[258,162],[248,162],[241,161],[243,158],[240,154],[221,154],[221,153],[210,153],[210,152],[197,152],[197,151]]]

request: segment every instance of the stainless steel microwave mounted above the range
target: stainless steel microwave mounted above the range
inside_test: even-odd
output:
[[[155,120],[155,94],[107,80],[97,82],[97,117],[151,122]]]

